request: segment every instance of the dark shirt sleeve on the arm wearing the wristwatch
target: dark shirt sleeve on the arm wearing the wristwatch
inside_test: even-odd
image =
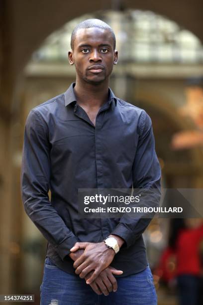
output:
[[[151,119],[145,111],[139,118],[138,135],[137,151],[132,166],[133,188],[135,191],[140,189],[142,206],[157,207],[161,198],[161,170],[155,152]],[[136,217],[124,215],[111,234],[122,237],[125,241],[122,248],[128,248],[145,231],[152,217],[144,218],[141,213]]]

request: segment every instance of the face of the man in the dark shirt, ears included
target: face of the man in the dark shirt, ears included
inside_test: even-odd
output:
[[[111,74],[117,61],[113,37],[109,30],[92,27],[79,29],[69,62],[75,64],[77,77],[100,84]]]

